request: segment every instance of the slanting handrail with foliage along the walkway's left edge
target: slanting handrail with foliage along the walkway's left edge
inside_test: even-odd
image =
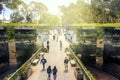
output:
[[[38,52],[39,52],[40,50],[41,50],[41,48],[38,49],[38,50],[32,55],[32,57],[31,57],[30,59],[28,59],[19,69],[17,69],[16,72],[14,72],[7,80],[16,80],[16,78],[22,74],[22,71],[21,71],[21,70],[23,69],[23,67],[25,67],[26,65],[29,66],[28,64],[31,62],[32,59],[34,59],[34,58],[37,56],[37,54],[38,54]]]

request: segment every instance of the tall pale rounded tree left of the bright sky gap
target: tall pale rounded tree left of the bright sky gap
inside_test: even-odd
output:
[[[45,20],[48,9],[43,3],[32,1],[29,4],[28,10],[31,12],[32,22],[39,23],[39,22],[44,22],[41,20],[42,18],[44,18]]]

